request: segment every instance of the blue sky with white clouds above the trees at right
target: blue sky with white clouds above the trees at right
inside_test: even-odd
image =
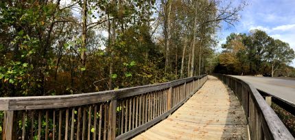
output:
[[[225,43],[231,32],[265,31],[272,38],[283,40],[295,51],[295,0],[248,0],[235,27],[224,24],[220,43]],[[290,64],[295,67],[295,60]]]

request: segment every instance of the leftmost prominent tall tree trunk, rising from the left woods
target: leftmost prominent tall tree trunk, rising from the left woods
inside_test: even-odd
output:
[[[82,66],[86,64],[86,39],[87,39],[87,0],[83,0],[82,14],[82,46],[81,46],[81,61]]]

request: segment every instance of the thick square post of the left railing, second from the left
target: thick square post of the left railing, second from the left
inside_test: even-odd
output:
[[[110,110],[108,111],[108,121],[110,122],[108,127],[108,139],[116,139],[116,109],[117,100],[110,101]]]

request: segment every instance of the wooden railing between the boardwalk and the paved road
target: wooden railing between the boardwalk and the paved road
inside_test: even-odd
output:
[[[294,139],[252,84],[229,75],[215,76],[227,84],[239,98],[248,120],[251,139]]]

